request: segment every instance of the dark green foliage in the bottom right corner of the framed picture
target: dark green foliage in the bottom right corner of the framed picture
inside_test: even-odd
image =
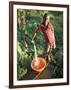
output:
[[[51,65],[53,66],[52,78],[63,78],[63,55],[53,56]]]

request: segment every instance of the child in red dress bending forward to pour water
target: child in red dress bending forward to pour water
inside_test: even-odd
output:
[[[35,31],[32,40],[34,40],[37,32],[41,32],[41,31],[43,32],[46,43],[48,44],[47,56],[48,56],[48,60],[50,61],[51,60],[50,55],[51,55],[52,48],[56,48],[54,27],[52,23],[50,22],[50,16],[47,13],[44,15],[43,19],[44,21],[40,24],[39,28]]]

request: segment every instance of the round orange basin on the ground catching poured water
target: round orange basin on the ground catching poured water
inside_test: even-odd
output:
[[[40,73],[42,72],[45,67],[46,67],[46,60],[44,58],[38,57],[37,58],[39,61],[39,63],[36,65],[35,62],[36,60],[33,59],[31,62],[31,68],[36,72],[36,73]]]

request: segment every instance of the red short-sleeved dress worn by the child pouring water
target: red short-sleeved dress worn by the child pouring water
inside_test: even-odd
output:
[[[40,27],[36,30],[36,32],[42,31],[46,42],[50,44],[51,46],[54,46],[55,36],[54,36],[54,32],[52,31],[52,29],[53,29],[53,25],[51,23],[49,23],[47,27],[44,25],[44,23],[41,23]]]

